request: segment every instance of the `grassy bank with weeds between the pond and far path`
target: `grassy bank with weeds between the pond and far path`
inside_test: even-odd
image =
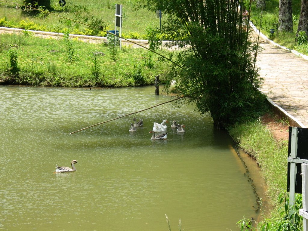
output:
[[[142,48],[0,34],[0,83],[62,87],[127,87],[164,81],[167,63]],[[168,51],[161,51],[168,52]]]

